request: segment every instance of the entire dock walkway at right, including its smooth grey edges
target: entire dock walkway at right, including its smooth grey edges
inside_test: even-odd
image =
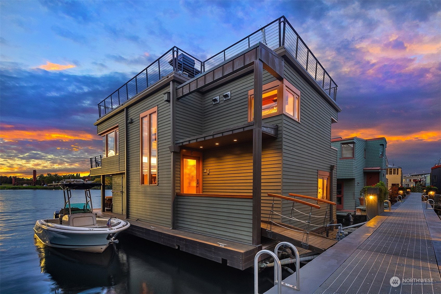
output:
[[[441,220],[412,193],[301,268],[299,292],[282,292],[436,294],[440,265]],[[295,284],[295,274],[284,282]]]

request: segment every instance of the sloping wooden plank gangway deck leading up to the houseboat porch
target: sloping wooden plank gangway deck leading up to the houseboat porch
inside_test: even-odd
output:
[[[267,223],[262,222],[261,227],[262,236],[269,237],[266,231]],[[284,223],[274,222],[272,231],[273,235],[271,238],[279,242],[290,242],[292,243],[292,245],[296,247],[299,246],[300,248],[302,248],[302,242],[306,242],[306,234],[304,233],[304,230],[299,229],[298,227],[292,227]],[[333,246],[337,242],[338,241],[336,239],[328,238],[326,236],[310,232],[308,237],[308,249],[315,253],[323,253],[326,249]]]

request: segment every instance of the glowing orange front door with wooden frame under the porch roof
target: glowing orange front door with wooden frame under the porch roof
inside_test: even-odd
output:
[[[181,193],[202,193],[202,153],[181,151]]]

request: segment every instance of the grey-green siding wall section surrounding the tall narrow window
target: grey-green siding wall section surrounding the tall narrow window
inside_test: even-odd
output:
[[[171,154],[170,146],[170,104],[163,100],[168,87],[131,105],[128,118],[133,120],[127,129],[127,178],[128,214],[131,219],[139,219],[153,224],[170,226],[171,217]],[[151,108],[158,108],[158,171],[157,185],[141,186],[140,167],[140,119],[139,115]]]

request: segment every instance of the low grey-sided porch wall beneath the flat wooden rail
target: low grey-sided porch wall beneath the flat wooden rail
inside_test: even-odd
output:
[[[252,199],[176,197],[176,228],[251,243]]]

